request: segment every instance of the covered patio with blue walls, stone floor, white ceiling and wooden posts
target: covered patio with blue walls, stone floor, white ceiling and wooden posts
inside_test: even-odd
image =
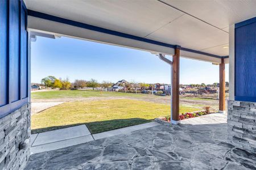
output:
[[[0,1],[0,169],[256,169],[255,6],[250,0]],[[31,155],[30,42],[36,36],[158,55],[171,65],[170,126]],[[227,124],[180,124],[180,57],[219,66],[218,114],[225,114],[229,63]]]

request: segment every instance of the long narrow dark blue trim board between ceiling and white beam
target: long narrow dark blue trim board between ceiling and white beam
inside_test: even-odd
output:
[[[206,56],[209,56],[209,57],[223,58],[223,56],[217,56],[217,55],[210,54],[210,53],[200,52],[198,50],[182,48],[179,45],[172,45],[172,44],[167,44],[167,43],[164,43],[164,42],[159,42],[159,41],[155,41],[155,40],[145,39],[143,37],[129,35],[127,33],[113,31],[113,30],[110,30],[110,29],[101,28],[101,27],[97,27],[97,26],[94,26],[94,25],[90,25],[90,24],[80,23],[80,22],[76,22],[76,21],[73,21],[73,20],[69,20],[69,19],[65,19],[65,18],[60,18],[58,16],[44,14],[44,13],[38,12],[38,11],[32,11],[32,10],[27,10],[27,11],[28,11],[28,15],[34,16],[36,18],[47,19],[47,20],[51,20],[53,22],[68,24],[68,25],[72,25],[72,26],[75,26],[75,27],[89,29],[89,30],[92,30],[92,31],[107,33],[109,35],[119,36],[119,37],[123,37],[123,38],[126,38],[126,39],[132,39],[132,40],[147,42],[147,43],[150,43],[150,44],[166,46],[168,48],[177,48],[177,47],[179,47],[181,50],[185,50],[185,51],[192,52],[192,53],[197,53],[197,54],[203,54],[203,55],[206,55]]]

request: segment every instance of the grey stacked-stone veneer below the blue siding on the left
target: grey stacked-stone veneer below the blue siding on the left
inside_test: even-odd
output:
[[[0,118],[0,169],[23,169],[30,156],[30,104]]]

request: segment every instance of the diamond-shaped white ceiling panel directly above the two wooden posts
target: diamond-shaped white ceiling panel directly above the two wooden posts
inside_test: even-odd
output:
[[[228,33],[189,15],[181,16],[147,38],[174,45],[181,44],[185,48],[195,50],[226,44],[229,41]]]

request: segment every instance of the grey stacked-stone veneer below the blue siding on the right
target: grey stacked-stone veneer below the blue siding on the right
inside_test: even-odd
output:
[[[256,103],[228,101],[228,139],[236,147],[256,152]]]

